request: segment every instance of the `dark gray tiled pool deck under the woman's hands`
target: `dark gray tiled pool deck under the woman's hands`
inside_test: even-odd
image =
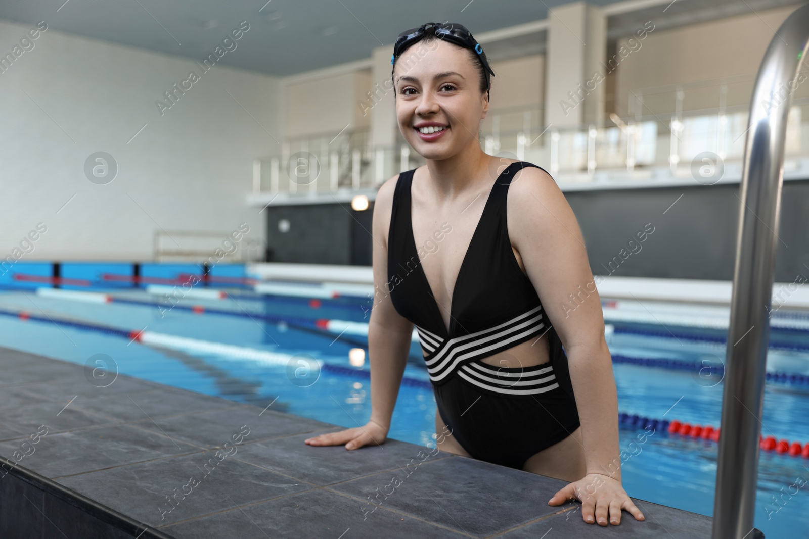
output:
[[[0,537],[710,535],[708,517],[642,500],[645,522],[585,524],[577,503],[547,505],[564,482],[397,440],[303,444],[338,428],[123,375],[96,387],[0,347]]]

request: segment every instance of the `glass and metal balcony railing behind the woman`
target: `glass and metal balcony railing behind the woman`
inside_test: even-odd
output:
[[[809,98],[793,103],[786,156],[809,158]],[[612,115],[608,124],[544,130],[536,124],[537,109],[522,115],[522,128],[494,115],[481,127],[481,148],[543,166],[560,183],[681,178],[701,171],[705,163],[740,163],[748,124],[745,105],[631,118]],[[286,141],[281,155],[256,163],[254,194],[372,190],[422,164],[424,159],[407,144],[371,147],[366,131]]]

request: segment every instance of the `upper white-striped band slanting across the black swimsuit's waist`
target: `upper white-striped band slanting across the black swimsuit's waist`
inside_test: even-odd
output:
[[[425,357],[427,372],[431,381],[442,381],[455,372],[462,362],[474,360],[478,356],[489,356],[488,352],[514,343],[527,335],[536,334],[544,327],[542,305],[511,318],[508,322],[490,327],[488,330],[476,331],[469,335],[455,337],[444,341],[438,335],[417,326],[421,347],[430,352]]]

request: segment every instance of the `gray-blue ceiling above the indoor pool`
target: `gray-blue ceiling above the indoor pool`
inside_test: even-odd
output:
[[[222,64],[286,76],[371,56],[405,29],[427,21],[462,23],[476,34],[545,19],[570,0],[0,0],[0,19],[36,24],[97,40],[195,60],[214,51],[231,30],[250,29]],[[613,0],[591,0],[608,6]],[[626,2],[624,2],[626,3]],[[613,15],[609,35],[633,33],[653,19],[657,28],[739,15],[794,0],[676,0]],[[553,15],[552,15],[553,16]],[[544,49],[544,32],[487,44],[493,60]],[[238,51],[238,52],[236,52]],[[489,52],[490,51],[490,52]]]

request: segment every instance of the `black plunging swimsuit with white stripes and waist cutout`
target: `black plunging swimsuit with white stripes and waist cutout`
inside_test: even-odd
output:
[[[579,426],[567,356],[506,227],[506,195],[523,166],[536,165],[512,163],[489,192],[455,281],[448,332],[413,239],[413,171],[396,182],[388,232],[391,300],[416,326],[438,413],[472,457],[512,468]],[[548,363],[498,368],[481,361],[546,332]]]

